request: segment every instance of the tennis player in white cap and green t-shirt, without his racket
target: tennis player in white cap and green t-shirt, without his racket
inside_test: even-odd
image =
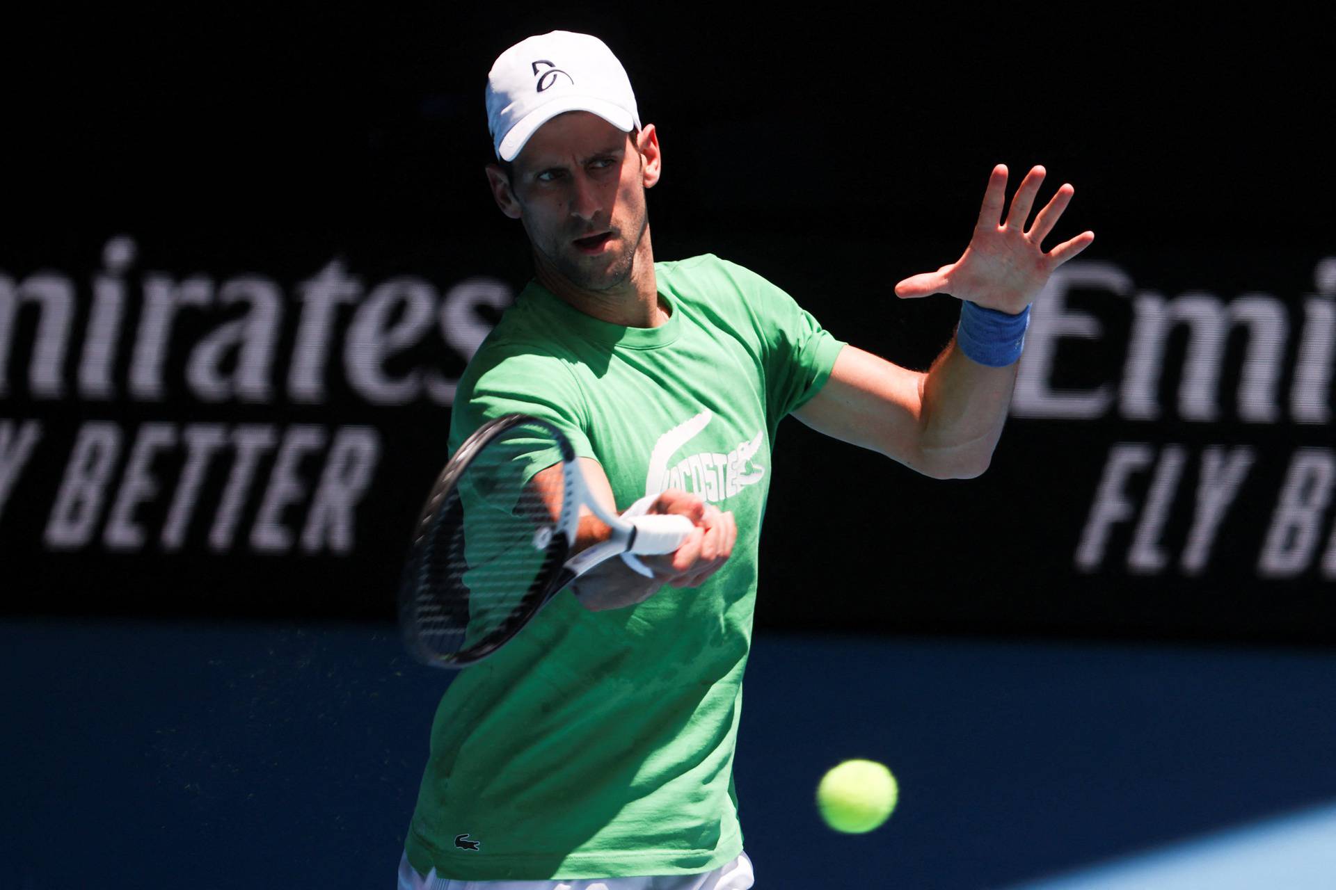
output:
[[[934,478],[989,466],[1029,304],[1083,232],[1045,252],[1071,197],[1026,220],[1041,167],[993,169],[959,260],[895,286],[961,300],[926,374],[838,342],[784,291],[713,255],[655,262],[645,191],[663,157],[621,64],[552,32],[486,87],[497,205],[534,278],[469,364],[452,451],[489,418],[557,424],[599,496],[679,512],[687,542],[613,559],[462,671],[432,727],[401,889],[741,890],[754,882],[732,786],[771,443],[794,415]],[[578,546],[607,534],[581,524]]]

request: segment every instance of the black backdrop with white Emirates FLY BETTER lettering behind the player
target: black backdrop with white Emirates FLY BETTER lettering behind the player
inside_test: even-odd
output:
[[[449,382],[528,278],[482,84],[603,36],[657,124],[660,259],[711,251],[925,367],[987,172],[1097,232],[991,470],[782,427],[763,626],[1336,639],[1332,16],[1022,20],[310,5],[8,23],[0,608],[387,618]],[[1186,322],[1185,322],[1186,320]]]

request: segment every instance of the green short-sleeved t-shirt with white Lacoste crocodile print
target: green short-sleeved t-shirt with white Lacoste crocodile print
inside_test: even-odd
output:
[[[560,594],[446,690],[406,849],[472,881],[708,871],[737,855],[732,789],[775,430],[842,344],[787,294],[705,255],[656,263],[656,328],[593,319],[530,283],[460,382],[452,452],[524,412],[597,459],[617,508],[684,488],[733,511],[700,587],[591,612]]]

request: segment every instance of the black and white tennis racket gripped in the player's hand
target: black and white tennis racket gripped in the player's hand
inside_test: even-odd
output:
[[[550,467],[560,471],[536,478]],[[572,555],[581,508],[612,535]],[[422,508],[399,584],[405,644],[426,664],[473,664],[584,572],[623,552],[672,552],[692,527],[679,515],[621,519],[597,503],[550,423],[489,420],[445,464]]]

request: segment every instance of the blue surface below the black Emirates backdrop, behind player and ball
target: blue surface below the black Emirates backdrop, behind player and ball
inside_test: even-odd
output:
[[[390,887],[449,674],[390,626],[0,624],[0,887]],[[758,634],[758,887],[1336,886],[1336,654]],[[812,794],[883,761],[891,819]]]

